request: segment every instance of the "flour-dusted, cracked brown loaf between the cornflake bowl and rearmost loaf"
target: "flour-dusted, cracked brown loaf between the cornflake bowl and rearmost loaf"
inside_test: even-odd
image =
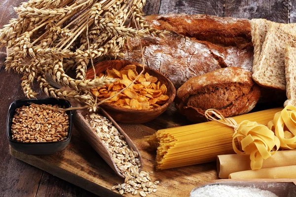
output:
[[[165,34],[164,38],[141,39],[145,65],[167,76],[176,88],[188,79],[222,67],[241,66],[252,69],[253,52],[236,47],[221,47],[204,41],[193,41],[178,33]],[[123,51],[125,60],[143,64],[138,39],[130,39]]]

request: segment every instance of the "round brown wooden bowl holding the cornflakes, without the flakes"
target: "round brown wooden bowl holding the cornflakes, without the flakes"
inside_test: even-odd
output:
[[[100,73],[105,73],[105,71],[108,68],[109,69],[115,68],[116,70],[120,70],[122,67],[127,65],[136,65],[138,73],[140,73],[143,69],[142,65],[135,62],[123,61],[123,60],[111,60],[111,61],[100,62],[95,65],[96,76],[98,76]],[[128,124],[146,123],[158,117],[172,104],[176,96],[176,89],[172,84],[172,82],[160,72],[153,70],[147,66],[145,66],[145,72],[148,72],[150,75],[157,77],[160,83],[166,85],[168,89],[167,95],[169,96],[169,99],[165,104],[161,105],[160,107],[155,109],[149,109],[149,110],[133,110],[133,109],[127,109],[123,107],[118,107],[110,103],[102,103],[101,106],[111,115],[111,117],[115,121],[118,121],[121,123],[128,123]],[[91,66],[87,69],[86,78],[87,79],[94,78],[94,70]]]

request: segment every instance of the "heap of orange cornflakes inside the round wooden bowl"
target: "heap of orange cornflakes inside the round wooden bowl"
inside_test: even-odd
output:
[[[120,71],[114,68],[107,69],[105,75],[118,80],[112,84],[91,89],[91,92],[99,99],[113,97],[107,100],[107,103],[127,109],[149,110],[160,107],[169,99],[166,95],[166,85],[161,84],[157,77],[151,76],[148,72],[138,76],[137,66],[135,65],[127,65],[121,68]],[[98,77],[102,76],[104,74],[100,73]],[[136,78],[137,80],[132,84],[132,81]],[[128,86],[129,88],[118,94],[120,90]]]

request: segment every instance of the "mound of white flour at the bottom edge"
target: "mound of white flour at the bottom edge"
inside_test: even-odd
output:
[[[251,187],[207,185],[190,194],[190,197],[278,197],[272,192]]]

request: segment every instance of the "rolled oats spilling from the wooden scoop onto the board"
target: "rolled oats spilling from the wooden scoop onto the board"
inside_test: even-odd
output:
[[[124,193],[136,195],[137,190],[141,190],[139,194],[142,197],[146,197],[151,192],[156,192],[156,185],[159,181],[152,183],[149,173],[140,171],[141,164],[137,158],[139,153],[127,145],[124,136],[113,126],[112,122],[95,113],[86,114],[84,118],[102,139],[118,170],[125,177],[123,184],[113,186],[111,190],[118,190],[121,195]]]

